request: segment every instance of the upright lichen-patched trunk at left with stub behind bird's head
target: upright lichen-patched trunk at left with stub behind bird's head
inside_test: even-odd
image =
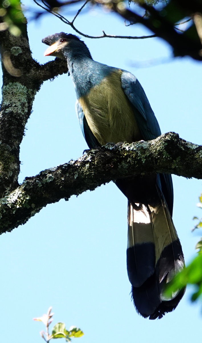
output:
[[[0,31],[3,86],[0,108],[0,197],[18,186],[19,146],[24,137],[33,100],[43,81],[67,72],[56,59],[40,66],[32,59],[26,24],[20,36]]]

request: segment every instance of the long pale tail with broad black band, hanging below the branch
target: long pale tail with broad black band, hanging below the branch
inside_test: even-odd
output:
[[[137,312],[149,319],[173,311],[184,289],[165,298],[164,286],[184,267],[184,257],[163,194],[151,204],[128,202],[127,272]]]

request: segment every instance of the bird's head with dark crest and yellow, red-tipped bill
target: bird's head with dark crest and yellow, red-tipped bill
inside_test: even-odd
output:
[[[44,52],[44,56],[56,56],[66,59],[70,52],[75,51],[77,55],[85,53],[92,58],[85,43],[79,37],[70,33],[55,33],[54,35],[43,38],[42,43],[49,45],[48,49]]]

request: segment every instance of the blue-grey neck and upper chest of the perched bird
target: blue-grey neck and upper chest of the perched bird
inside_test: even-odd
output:
[[[64,49],[64,57],[75,85],[77,98],[87,95],[113,68],[92,59],[89,49],[80,41],[70,42]]]

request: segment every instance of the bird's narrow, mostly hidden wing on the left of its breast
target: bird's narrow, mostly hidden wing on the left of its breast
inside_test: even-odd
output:
[[[76,101],[76,113],[79,119],[79,124],[80,124],[81,131],[83,133],[83,137],[85,138],[85,141],[87,145],[89,146],[89,148],[92,149],[92,148],[95,148],[96,146],[99,146],[100,144],[98,143],[94,134],[91,132],[89,128],[89,125],[83,113],[83,109],[80,103],[78,102],[78,100]]]

